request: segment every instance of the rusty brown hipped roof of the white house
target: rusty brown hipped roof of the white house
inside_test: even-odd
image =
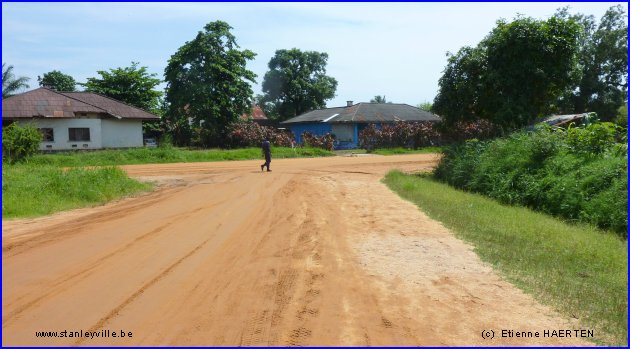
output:
[[[3,119],[74,118],[77,113],[100,113],[121,119],[159,119],[142,109],[91,92],[57,92],[40,87],[2,100]]]

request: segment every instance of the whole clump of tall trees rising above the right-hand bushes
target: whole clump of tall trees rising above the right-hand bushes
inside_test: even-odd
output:
[[[627,101],[628,25],[621,6],[599,25],[559,10],[499,20],[476,46],[450,54],[432,111],[446,123],[486,119],[507,131],[550,114],[611,121]]]

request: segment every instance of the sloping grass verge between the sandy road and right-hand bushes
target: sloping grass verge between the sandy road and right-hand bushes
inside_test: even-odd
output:
[[[384,182],[475,246],[525,292],[577,317],[599,344],[628,341],[628,242],[589,225],[453,189],[428,176],[393,171]]]

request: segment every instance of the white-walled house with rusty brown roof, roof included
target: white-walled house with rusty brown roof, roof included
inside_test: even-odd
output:
[[[159,117],[91,92],[38,88],[2,100],[2,125],[32,124],[41,150],[141,147],[142,121]]]

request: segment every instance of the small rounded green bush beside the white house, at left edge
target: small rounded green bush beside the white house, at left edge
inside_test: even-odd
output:
[[[12,123],[2,128],[2,161],[15,163],[37,153],[42,135],[32,125]]]

